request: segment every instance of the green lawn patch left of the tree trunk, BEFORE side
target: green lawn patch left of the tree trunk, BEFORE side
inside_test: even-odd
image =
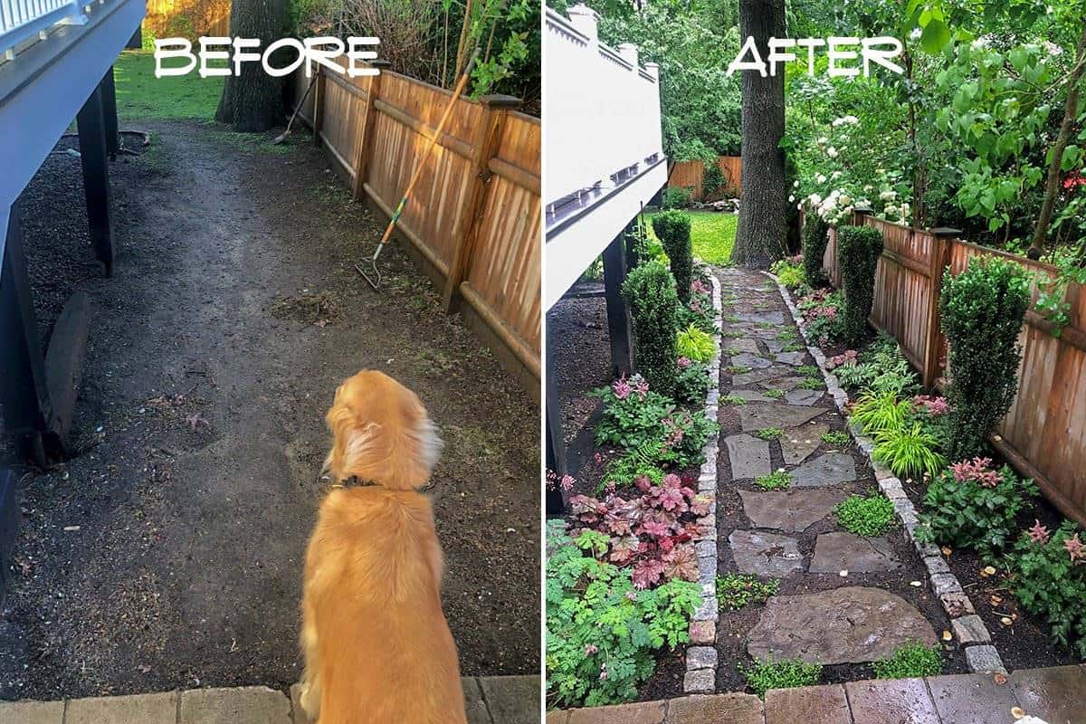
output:
[[[123,119],[215,117],[223,78],[201,78],[197,71],[184,76],[154,77],[154,54],[126,50],[113,66],[117,114]]]

